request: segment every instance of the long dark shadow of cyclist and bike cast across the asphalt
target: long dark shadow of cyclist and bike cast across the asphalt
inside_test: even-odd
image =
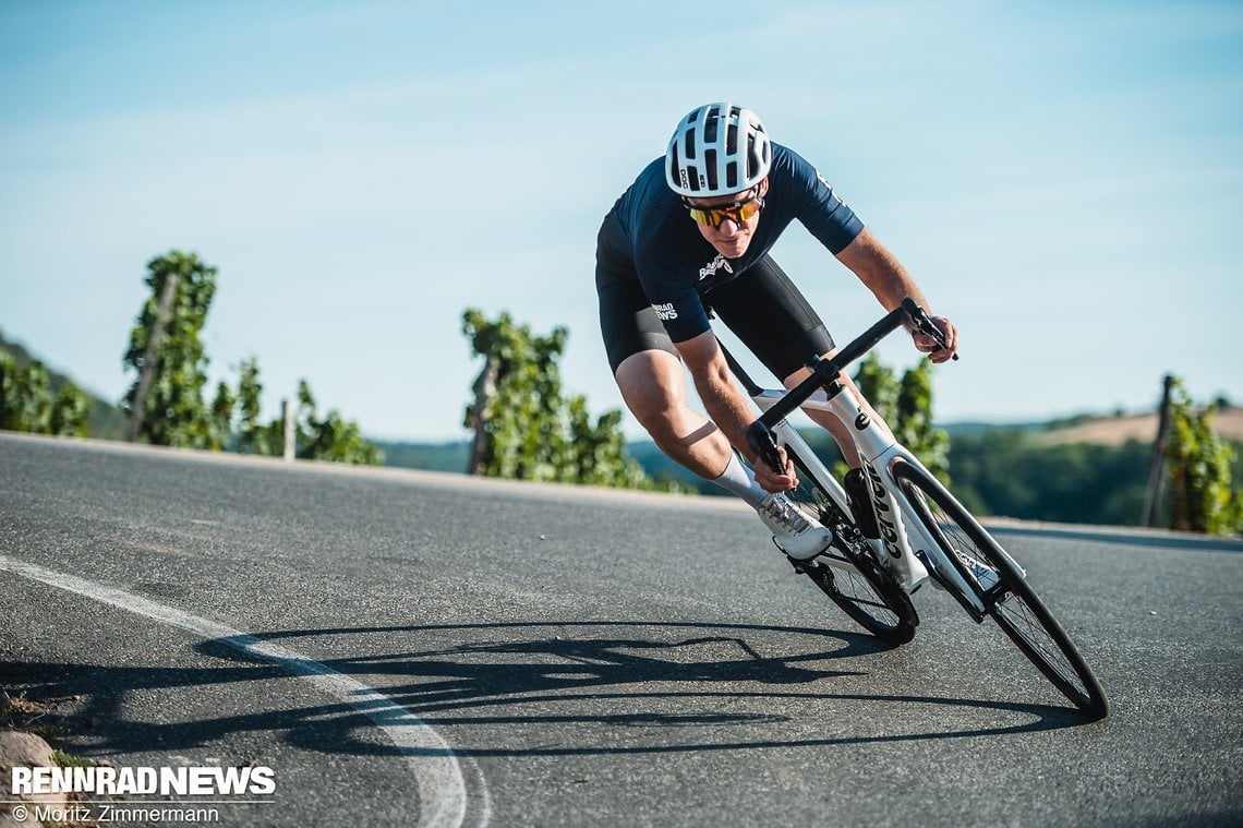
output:
[[[409,711],[405,724],[431,726],[452,745],[415,751],[426,756],[764,750],[999,736],[1084,724],[1074,711],[1050,705],[834,691],[834,683],[866,678],[860,660],[885,648],[870,637],[819,629],[534,622],[281,630],[247,639],[307,654],[347,650],[314,658]],[[400,643],[434,645],[394,650]],[[0,675],[25,674],[27,683],[51,692],[81,696],[80,720],[99,722],[87,755],[188,751],[246,731],[278,732],[291,745],[326,753],[410,755],[368,737],[375,722],[365,700],[290,705],[290,685],[276,694],[262,688],[291,681],[286,666],[235,639],[203,642],[194,650],[198,660],[214,663],[0,663]],[[252,694],[235,686],[246,684],[255,685]],[[271,704],[179,722],[137,720],[139,707],[127,704],[133,692],[203,694],[214,688],[235,705],[256,695]],[[907,712],[927,706],[932,715],[924,730],[912,730],[907,715],[890,716],[895,706]],[[837,717],[843,709],[859,715]],[[837,735],[824,734],[825,719]]]

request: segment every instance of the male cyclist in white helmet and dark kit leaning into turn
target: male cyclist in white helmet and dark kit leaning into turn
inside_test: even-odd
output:
[[[609,210],[597,239],[595,286],[613,375],[651,439],[753,506],[788,556],[808,559],[832,542],[832,533],[783,494],[798,485],[784,453],[783,469],[751,456],[751,400],[733,383],[709,323],[711,312],[787,388],[808,375],[810,354],[833,353],[820,317],[768,255],[794,219],[886,310],[906,296],[927,307],[901,264],[815,168],[772,143],[753,112],[731,103],[710,103],[682,118],[665,157],[651,162]],[[947,348],[936,351],[924,334],[915,334],[915,347],[945,362],[957,349],[957,336],[945,317],[936,323]],[[690,407],[682,363],[711,419]],[[842,382],[854,388],[844,373]],[[851,467],[845,479],[851,504],[866,504],[854,444],[835,418],[810,415],[833,434]],[[854,511],[874,533],[871,510]]]

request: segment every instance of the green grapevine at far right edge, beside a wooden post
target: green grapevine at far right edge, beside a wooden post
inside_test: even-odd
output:
[[[1166,444],[1173,528],[1209,535],[1243,531],[1243,495],[1233,489],[1234,451],[1213,430],[1216,405],[1197,409],[1182,380],[1170,393]]]

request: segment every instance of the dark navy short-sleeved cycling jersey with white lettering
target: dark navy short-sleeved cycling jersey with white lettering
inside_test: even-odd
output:
[[[610,254],[633,261],[644,293],[674,342],[709,329],[702,296],[768,255],[789,223],[798,219],[837,255],[863,231],[863,223],[815,168],[791,149],[773,144],[768,195],[751,245],[726,259],[700,235],[681,199],[665,182],[665,159],[651,162],[613,208],[629,249]]]

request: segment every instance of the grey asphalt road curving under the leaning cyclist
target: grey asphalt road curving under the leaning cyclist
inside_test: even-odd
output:
[[[0,684],[272,768],[225,826],[1243,824],[1243,543],[994,530],[1105,721],[940,593],[879,646],[725,499],[0,434]]]

